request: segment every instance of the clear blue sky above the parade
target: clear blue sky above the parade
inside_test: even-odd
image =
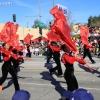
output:
[[[49,11],[53,7],[53,0],[40,0],[42,22],[47,24],[53,20]],[[0,23],[13,21],[12,15],[16,14],[19,26],[31,27],[34,20],[39,18],[38,0],[0,0],[0,4],[10,2],[10,5],[0,5]],[[68,8],[72,13],[72,20],[75,23],[86,23],[90,15],[100,15],[100,0],[54,0],[54,5],[61,4]],[[34,16],[28,18],[26,16]]]

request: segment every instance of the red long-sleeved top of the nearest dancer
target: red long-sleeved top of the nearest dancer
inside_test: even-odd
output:
[[[63,54],[63,56],[61,58],[61,61],[64,64],[66,64],[67,62],[70,63],[70,64],[73,64],[75,61],[77,61],[77,62],[79,62],[81,64],[85,64],[83,59],[76,58],[75,56],[69,56],[67,54]]]

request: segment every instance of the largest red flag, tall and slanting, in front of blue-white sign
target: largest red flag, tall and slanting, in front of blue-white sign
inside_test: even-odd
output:
[[[59,36],[61,40],[72,50],[76,51],[76,46],[71,39],[70,29],[66,22],[66,18],[62,11],[58,7],[51,9],[50,13],[55,17],[54,24],[51,30]]]

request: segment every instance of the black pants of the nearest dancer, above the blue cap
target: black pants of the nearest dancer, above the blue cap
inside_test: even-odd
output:
[[[73,67],[66,68],[66,70],[64,72],[64,78],[66,80],[67,89],[69,91],[74,91],[74,90],[78,89],[78,83],[74,76],[74,68]]]

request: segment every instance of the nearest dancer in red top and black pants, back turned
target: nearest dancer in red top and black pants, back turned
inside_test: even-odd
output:
[[[78,52],[76,52],[74,55],[72,55],[70,52],[70,49],[65,44],[62,45],[61,48],[65,52],[62,55],[61,61],[64,63],[65,68],[66,68],[65,72],[64,72],[64,78],[67,83],[67,89],[69,91],[74,91],[74,90],[78,89],[78,82],[77,82],[76,77],[74,76],[73,64],[75,61],[79,62],[81,64],[86,64],[86,62],[84,61],[84,59],[77,58]],[[69,99],[66,99],[66,100],[69,100]]]

